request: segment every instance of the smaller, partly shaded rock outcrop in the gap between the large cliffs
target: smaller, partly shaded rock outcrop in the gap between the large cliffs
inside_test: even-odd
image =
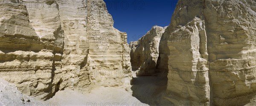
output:
[[[154,26],[138,41],[130,42],[132,70],[138,70],[137,76],[156,73],[159,55],[159,43],[165,28]]]

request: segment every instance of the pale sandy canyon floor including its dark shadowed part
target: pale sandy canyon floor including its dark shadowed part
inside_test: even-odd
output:
[[[163,75],[135,77],[129,86],[97,86],[90,92],[65,89],[41,102],[60,106],[154,106],[166,89],[167,79]]]

